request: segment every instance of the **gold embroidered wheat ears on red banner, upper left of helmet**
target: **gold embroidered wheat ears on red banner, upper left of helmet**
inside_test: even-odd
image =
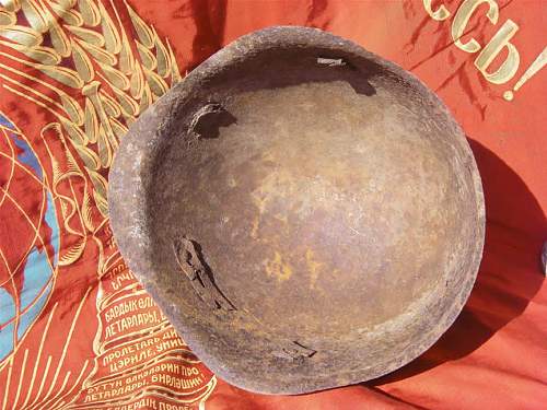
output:
[[[55,106],[59,125],[68,136],[92,183],[92,196],[103,218],[107,216],[106,172],[127,126],[181,80],[171,45],[125,3],[137,33],[133,55],[116,7],[109,13],[98,1],[12,1],[0,14],[1,45],[15,54],[0,52],[13,61],[39,70],[60,85],[80,90],[83,99],[50,85],[55,97],[38,91],[16,92],[26,81],[43,83],[36,75],[8,68],[16,94]],[[21,14],[28,26],[16,24]],[[54,15],[55,14],[55,15]],[[50,45],[44,43],[48,35]],[[18,54],[25,58],[18,57]],[[3,67],[7,68],[7,67]],[[82,174],[83,176],[83,174]],[[81,245],[79,245],[81,247]],[[75,249],[74,249],[75,250]]]

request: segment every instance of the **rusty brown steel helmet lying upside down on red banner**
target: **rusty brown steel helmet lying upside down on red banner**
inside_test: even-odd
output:
[[[193,351],[242,388],[300,394],[417,358],[481,258],[467,141],[410,73],[305,27],[230,44],[121,141],[121,255]]]

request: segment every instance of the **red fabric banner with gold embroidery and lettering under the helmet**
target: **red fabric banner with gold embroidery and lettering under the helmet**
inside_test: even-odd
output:
[[[539,409],[547,402],[547,3],[1,0],[1,409]],[[127,127],[223,45],[270,25],[415,73],[466,132],[487,237],[472,296],[380,379],[264,396],[214,376],[123,261],[108,168]]]

